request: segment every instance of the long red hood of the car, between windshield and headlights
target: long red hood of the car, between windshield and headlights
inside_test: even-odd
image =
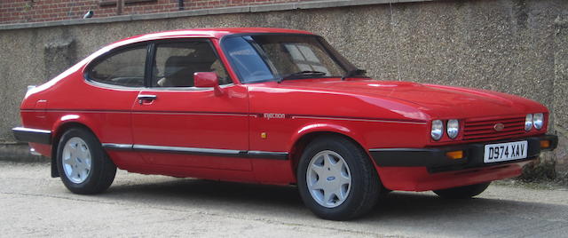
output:
[[[377,80],[296,80],[280,85],[302,90],[351,94],[367,100],[382,99],[379,102],[384,99],[396,100],[437,118],[548,112],[547,108],[538,102],[506,93],[435,84]]]

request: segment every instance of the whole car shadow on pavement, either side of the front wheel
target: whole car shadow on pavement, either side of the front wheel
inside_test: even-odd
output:
[[[247,212],[255,215],[304,216],[315,218],[304,204],[296,186],[266,186],[219,182],[193,178],[167,178],[159,182],[122,182],[111,186],[107,199],[143,202],[156,206],[201,208]],[[442,199],[433,193],[392,192],[381,198],[375,209],[358,222],[392,223],[416,218],[415,225],[430,226],[432,219],[443,224],[475,217],[493,220],[499,216],[516,216],[550,210],[554,205],[537,202],[517,202],[501,199],[474,198],[468,200]],[[564,207],[565,209],[565,207]],[[486,218],[490,216],[491,218]],[[490,225],[490,224],[489,224]]]

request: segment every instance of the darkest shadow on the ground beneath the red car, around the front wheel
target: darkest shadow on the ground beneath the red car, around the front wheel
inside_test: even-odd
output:
[[[156,201],[186,201],[223,203],[232,206],[287,207],[304,210],[304,204],[296,186],[268,186],[233,182],[212,181],[193,178],[171,178],[147,184],[124,184],[111,186],[109,198],[123,195]],[[382,197],[367,218],[390,218],[397,216],[427,216],[444,210],[452,210],[454,215],[461,211],[487,209],[493,206],[500,209],[518,207],[519,210],[539,204],[499,199],[474,198],[467,200],[442,199],[433,193],[391,192]]]

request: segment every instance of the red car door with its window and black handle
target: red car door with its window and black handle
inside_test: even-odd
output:
[[[132,107],[134,149],[146,163],[251,171],[248,93],[233,84],[209,39],[156,41],[148,86]],[[224,93],[193,85],[196,72],[216,72]]]

